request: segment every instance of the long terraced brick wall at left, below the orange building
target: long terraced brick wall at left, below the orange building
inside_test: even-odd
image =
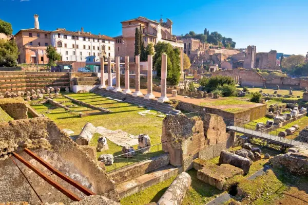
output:
[[[69,87],[68,73],[65,72],[24,72],[0,71],[0,92],[30,91],[59,87]]]

